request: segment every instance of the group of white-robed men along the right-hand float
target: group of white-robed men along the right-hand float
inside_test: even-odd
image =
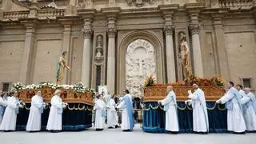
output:
[[[209,121],[204,92],[193,84],[194,93],[188,91],[186,104],[193,108],[193,131],[198,134],[208,134]],[[166,111],[166,130],[170,133],[178,133],[178,113],[176,95],[173,87],[167,87],[167,96],[159,104]],[[225,104],[227,109],[227,130],[234,134],[245,134],[246,131],[256,131],[256,100],[250,88],[242,90],[238,85],[234,88],[234,82],[227,82],[226,94],[218,99],[216,103]]]

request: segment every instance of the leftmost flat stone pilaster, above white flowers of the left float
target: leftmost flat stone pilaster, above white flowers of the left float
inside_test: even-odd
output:
[[[20,71],[19,81],[24,84],[30,84],[31,82],[31,63],[32,54],[34,50],[34,39],[35,39],[35,26],[36,21],[26,22],[26,35],[25,35],[25,45],[22,55],[22,66]]]

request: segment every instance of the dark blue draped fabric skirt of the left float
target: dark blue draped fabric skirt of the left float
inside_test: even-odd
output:
[[[78,103],[69,103],[69,107],[78,108]],[[82,106],[87,106],[85,104],[79,105],[80,108]],[[30,104],[26,104],[26,107],[30,107]],[[92,106],[88,106],[88,108],[93,109]],[[49,117],[50,109],[46,109],[42,113],[42,130],[46,130],[47,121]],[[26,130],[26,122],[29,118],[30,110],[26,110],[25,108],[19,110],[19,114],[17,115],[16,122],[16,130]],[[65,131],[77,131],[77,130],[85,130],[92,126],[92,111],[90,110],[68,110],[66,108],[62,113],[62,130]]]

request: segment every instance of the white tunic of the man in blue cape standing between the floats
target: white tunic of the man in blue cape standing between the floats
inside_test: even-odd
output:
[[[117,108],[122,109],[122,124],[121,124],[122,130],[130,130],[130,121],[129,121],[129,116],[126,109],[125,101],[122,101]]]

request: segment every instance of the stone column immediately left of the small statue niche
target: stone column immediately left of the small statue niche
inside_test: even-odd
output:
[[[84,41],[83,41],[83,52],[82,52],[82,83],[86,86],[90,86],[90,56],[91,56],[91,44],[90,38],[93,33],[91,29],[91,19],[87,18],[84,20]]]

